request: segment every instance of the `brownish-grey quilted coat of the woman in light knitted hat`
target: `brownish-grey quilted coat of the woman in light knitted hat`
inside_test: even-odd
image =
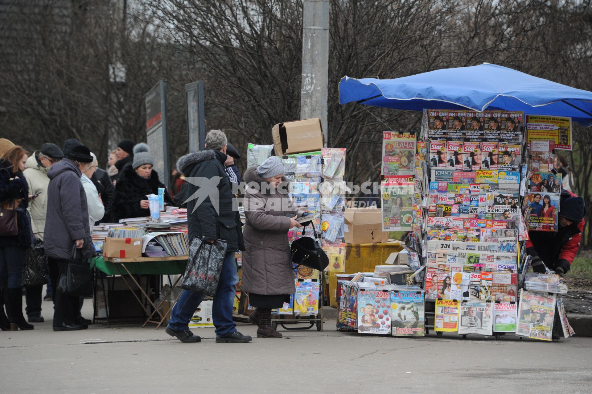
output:
[[[265,182],[251,166],[244,172],[243,181]],[[282,181],[286,182],[285,178]],[[262,193],[264,191],[265,193]],[[287,213],[302,216],[287,194],[278,190],[256,190],[247,187],[244,193],[243,290],[247,293],[279,295],[295,292],[291,270]]]

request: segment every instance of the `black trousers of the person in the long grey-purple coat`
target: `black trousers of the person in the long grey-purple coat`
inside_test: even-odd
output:
[[[60,273],[66,267],[66,260],[57,260],[52,257],[47,258],[49,266],[49,280],[52,283],[53,290],[53,326],[63,324],[77,324],[76,321],[80,315],[80,297],[69,296],[57,290],[57,282]]]

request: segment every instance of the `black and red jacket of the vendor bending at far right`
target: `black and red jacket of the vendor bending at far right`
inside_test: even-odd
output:
[[[567,193],[570,194],[568,197],[577,197],[570,191]],[[561,210],[559,212],[561,213]],[[570,226],[559,226],[556,233],[529,231],[530,239],[526,241],[526,252],[529,255],[538,255],[551,269],[561,265],[567,273],[580,248],[584,224],[582,220]]]

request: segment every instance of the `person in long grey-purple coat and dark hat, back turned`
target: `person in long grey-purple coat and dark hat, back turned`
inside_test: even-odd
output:
[[[72,257],[76,245],[76,258],[95,255],[88,220],[86,193],[80,177],[92,165],[91,151],[86,146],[75,146],[67,158],[49,169],[47,188],[47,217],[44,246],[52,283],[54,312],[53,331],[73,331],[88,328],[82,321],[80,298],[57,291],[60,273]]]

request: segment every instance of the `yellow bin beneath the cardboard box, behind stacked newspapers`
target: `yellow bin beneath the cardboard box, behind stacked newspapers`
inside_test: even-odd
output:
[[[391,253],[403,250],[400,241],[381,242],[379,244],[345,244],[345,273],[374,272],[374,267],[384,265]],[[337,278],[329,273],[329,305],[337,307],[335,290]]]

